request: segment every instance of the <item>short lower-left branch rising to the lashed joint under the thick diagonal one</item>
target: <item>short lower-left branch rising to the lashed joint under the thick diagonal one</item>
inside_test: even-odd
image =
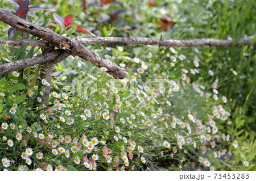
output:
[[[56,57],[64,53],[67,54],[67,56],[69,56],[69,54],[65,52],[65,50],[57,49],[49,53],[39,54],[38,56],[35,56],[35,57],[26,58],[23,60],[19,60],[19,61],[7,63],[7,64],[2,64],[0,65],[0,76],[9,71],[24,69],[24,68],[27,68],[28,66],[34,66],[37,64],[42,64],[44,62],[55,60]]]

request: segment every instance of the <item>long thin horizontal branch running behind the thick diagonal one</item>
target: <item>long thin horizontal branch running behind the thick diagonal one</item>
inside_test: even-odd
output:
[[[238,40],[236,45],[250,45],[253,36],[246,36]],[[94,37],[94,38],[76,38],[72,39],[82,44],[143,44],[168,47],[195,47],[195,46],[213,46],[213,47],[231,47],[236,41],[222,39],[190,39],[190,40],[163,40],[150,39],[146,37]],[[50,47],[52,46],[45,40],[24,40],[24,39],[0,39],[0,44],[13,44],[16,46],[31,47]]]

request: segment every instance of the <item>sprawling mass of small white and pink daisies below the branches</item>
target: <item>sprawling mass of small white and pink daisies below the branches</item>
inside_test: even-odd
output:
[[[122,52],[123,48],[115,50]],[[41,96],[50,83],[38,81],[22,92],[26,100],[12,99],[5,104],[0,144],[9,149],[0,155],[3,167],[139,170],[158,162],[156,158],[168,158],[179,160],[176,170],[196,166],[214,170],[212,159],[232,157],[222,142],[234,149],[239,145],[222,132],[222,124],[232,124],[226,105],[230,100],[218,92],[218,79],[208,84],[200,81],[199,60],[191,62],[192,57],[174,48],[168,54],[168,64],[163,67],[149,63],[153,61],[151,52],[140,58],[108,54],[105,57],[118,58],[122,64],[129,61],[131,70],[137,71],[115,80],[102,67],[95,75],[86,74],[86,86],[81,86],[82,76],[71,87],[53,81],[47,107]],[[214,74],[209,70],[207,76]],[[13,75],[19,76],[17,72]],[[147,78],[152,79],[141,81]],[[9,99],[7,91],[0,92],[1,100]],[[30,106],[32,95],[37,95],[36,103]],[[11,156],[13,150],[18,157]],[[244,160],[242,164],[249,166]]]

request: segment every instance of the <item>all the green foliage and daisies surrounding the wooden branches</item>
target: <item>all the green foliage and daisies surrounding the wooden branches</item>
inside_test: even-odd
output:
[[[46,2],[63,18],[72,14],[73,29],[79,24],[97,36],[126,37],[130,31],[154,39],[239,40],[255,33],[255,1],[158,0],[149,6],[120,0],[123,6],[87,2],[86,9],[82,1]],[[8,1],[0,5],[13,9]],[[47,7],[40,1],[32,5]],[[110,7],[126,11],[108,20]],[[64,31],[50,12],[28,15],[57,33],[90,37]],[[165,15],[174,25],[163,25]],[[9,26],[0,22],[0,29],[0,39],[6,39]],[[54,71],[75,73],[52,78],[47,108],[38,98],[44,91],[40,65],[6,73],[0,77],[0,169],[255,170],[254,45],[255,38],[250,46],[218,48],[90,45],[125,67],[127,78],[115,80],[79,57],[66,58]],[[0,64],[38,53],[40,48],[0,45]]]

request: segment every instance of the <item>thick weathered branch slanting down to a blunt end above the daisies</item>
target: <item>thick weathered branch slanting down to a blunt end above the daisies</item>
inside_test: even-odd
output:
[[[11,11],[0,8],[0,20],[16,28],[19,31],[30,33],[31,35],[40,37],[48,41],[55,47],[69,51],[73,56],[79,56],[98,67],[105,66],[108,73],[114,78],[125,78],[127,72],[114,64],[108,59],[101,58],[93,50],[85,48],[79,41],[72,40],[69,37],[59,35],[47,28],[41,27],[38,24],[27,22],[15,16]]]

